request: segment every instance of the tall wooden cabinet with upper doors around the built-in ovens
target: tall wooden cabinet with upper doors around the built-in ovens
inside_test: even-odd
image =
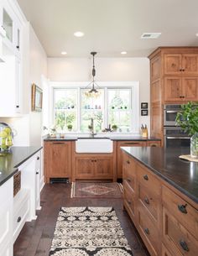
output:
[[[198,101],[198,47],[159,47],[150,60],[151,136],[164,145],[164,104]]]

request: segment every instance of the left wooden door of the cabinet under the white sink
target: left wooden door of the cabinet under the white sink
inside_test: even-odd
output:
[[[90,179],[94,178],[95,159],[90,157],[79,156],[75,161],[75,178],[76,179]]]

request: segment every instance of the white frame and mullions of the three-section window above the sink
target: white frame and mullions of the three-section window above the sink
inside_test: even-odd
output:
[[[81,132],[81,89],[86,89],[88,81],[50,81],[50,123],[55,123],[55,94],[56,89],[76,89],[77,90],[77,131]],[[108,89],[130,89],[131,90],[131,130],[126,133],[139,134],[139,81],[102,81],[97,82],[100,88],[104,89],[104,125],[107,127],[107,90]],[[102,133],[102,132],[101,132]]]

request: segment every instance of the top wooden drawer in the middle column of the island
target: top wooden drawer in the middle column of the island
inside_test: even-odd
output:
[[[161,185],[159,180],[146,170],[142,165],[136,165],[138,182],[142,183],[148,191],[154,191],[155,195],[160,195]]]

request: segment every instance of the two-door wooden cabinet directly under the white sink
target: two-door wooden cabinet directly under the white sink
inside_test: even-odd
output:
[[[112,154],[76,154],[74,179],[113,179]]]

